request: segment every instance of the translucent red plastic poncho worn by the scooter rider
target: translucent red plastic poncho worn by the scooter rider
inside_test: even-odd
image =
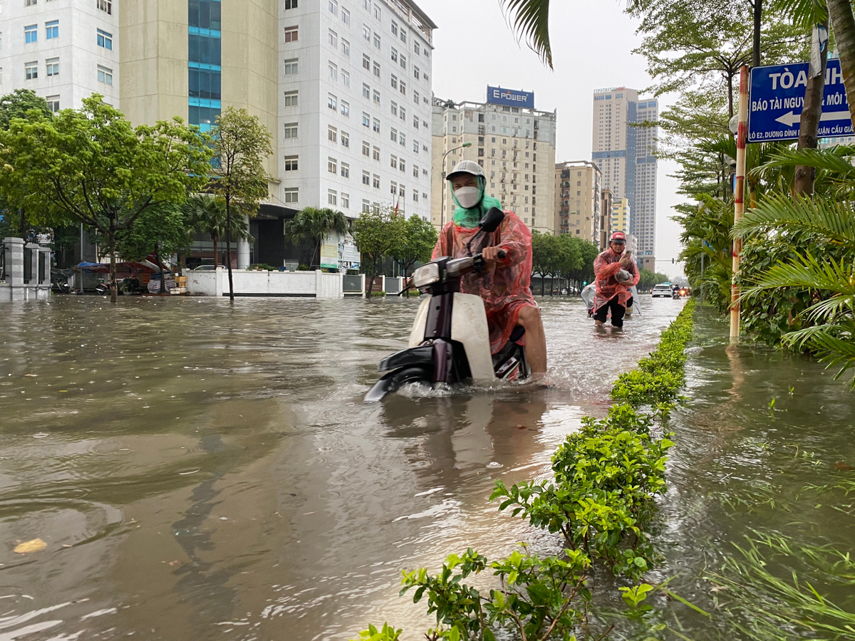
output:
[[[457,226],[453,221],[445,223],[439,232],[439,241],[433,248],[434,258],[451,256],[463,258],[469,256],[466,244],[472,238],[475,229]],[[481,244],[476,240],[472,244],[472,253],[481,247],[496,245],[508,252],[503,260],[484,273],[468,273],[460,281],[460,291],[475,294],[484,299],[487,325],[490,327],[490,351],[501,350],[514,331],[516,318],[525,305],[537,307],[530,288],[532,274],[532,233],[512,211],[504,212],[504,221],[495,232],[486,234]],[[522,341],[521,341],[522,342]]]

